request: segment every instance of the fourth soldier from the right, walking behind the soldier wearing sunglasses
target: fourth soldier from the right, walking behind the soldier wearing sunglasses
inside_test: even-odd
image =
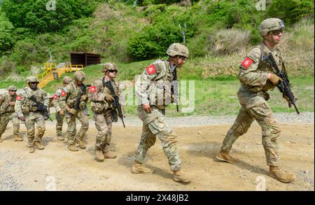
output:
[[[75,143],[79,144],[81,149],[86,146],[83,142],[85,132],[89,129],[88,113],[86,109],[88,90],[83,84],[85,73],[76,71],[73,75],[73,81],[66,86],[64,92],[66,97],[66,123],[68,124],[67,138],[68,148],[71,151],[78,151]],[[81,122],[81,128],[76,135],[76,118]]]

